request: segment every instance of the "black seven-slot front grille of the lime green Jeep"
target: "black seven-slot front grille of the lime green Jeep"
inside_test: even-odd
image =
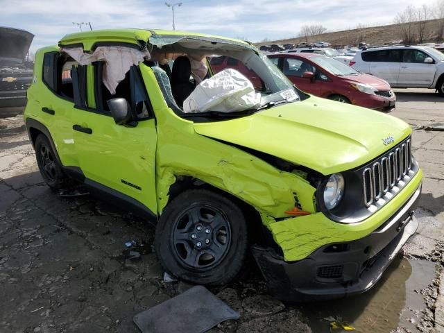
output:
[[[366,167],[362,173],[366,206],[370,207],[402,182],[411,169],[411,162],[411,139],[407,139]]]

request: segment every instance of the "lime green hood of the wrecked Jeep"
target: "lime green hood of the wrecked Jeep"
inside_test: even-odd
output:
[[[196,133],[255,149],[324,175],[359,167],[411,133],[388,114],[311,96],[251,116],[195,123]],[[384,145],[388,136],[395,143]]]

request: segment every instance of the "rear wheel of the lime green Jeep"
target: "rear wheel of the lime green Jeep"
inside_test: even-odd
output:
[[[40,174],[46,185],[51,189],[61,189],[65,187],[67,176],[63,173],[56,154],[49,144],[49,139],[45,135],[38,135],[35,139],[35,158],[39,167]]]

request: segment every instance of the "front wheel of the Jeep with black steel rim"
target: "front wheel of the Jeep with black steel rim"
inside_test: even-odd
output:
[[[247,247],[247,224],[239,206],[206,189],[174,198],[155,232],[155,251],[164,270],[195,284],[230,282],[244,264]]]

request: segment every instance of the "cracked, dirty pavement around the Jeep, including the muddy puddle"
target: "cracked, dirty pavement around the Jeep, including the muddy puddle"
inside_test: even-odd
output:
[[[444,133],[423,129],[444,122],[444,99],[426,89],[396,93],[393,115],[417,128],[414,154],[425,171],[420,228],[404,253],[368,293],[310,304],[275,300],[250,264],[211,289],[241,314],[211,332],[327,333],[332,318],[355,332],[444,332]],[[191,285],[163,281],[146,221],[44,185],[21,112],[0,110],[0,332],[139,332],[135,314]],[[131,240],[138,259],[125,246]]]

